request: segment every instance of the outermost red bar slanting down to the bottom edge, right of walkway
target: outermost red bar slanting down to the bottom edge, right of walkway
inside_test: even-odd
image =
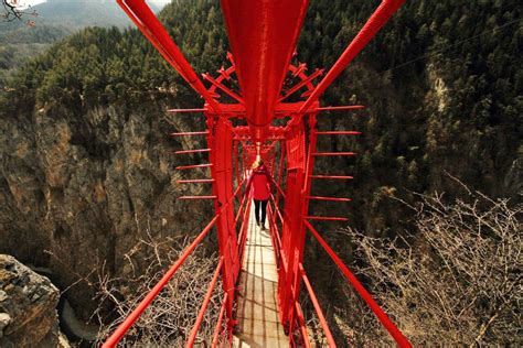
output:
[[[410,347],[410,342],[407,340],[405,336],[403,336],[402,331],[394,325],[391,318],[383,312],[380,305],[374,301],[372,295],[365,290],[365,287],[360,283],[357,278],[349,270],[349,268],[343,263],[343,261],[337,255],[334,250],[332,250],[329,244],[321,238],[320,233],[310,225],[309,221],[305,220],[306,227],[309,231],[316,237],[318,242],[323,247],[327,253],[331,257],[332,261],[340,268],[345,275],[346,280],[351,283],[354,290],[360,294],[363,301],[366,302],[369,307],[371,307],[372,312],[376,315],[380,319],[382,325],[387,329],[387,331],[393,336],[399,347]]]

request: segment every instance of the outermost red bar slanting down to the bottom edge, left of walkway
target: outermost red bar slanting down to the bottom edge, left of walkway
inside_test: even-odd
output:
[[[182,252],[180,259],[167,271],[167,273],[160,279],[160,281],[152,287],[152,290],[143,297],[143,300],[138,304],[138,306],[129,314],[129,316],[121,323],[118,328],[113,333],[113,335],[107,338],[103,348],[113,348],[120,341],[124,335],[129,330],[129,328],[135,324],[135,322],[141,316],[143,311],[151,304],[152,300],[158,296],[160,291],[169,283],[171,278],[177,273],[178,269],[185,262],[186,258],[196,249],[198,244],[203,240],[203,238],[209,233],[211,228],[216,224],[220,214],[214,216],[214,218],[205,226],[205,228],[200,232],[196,239]]]

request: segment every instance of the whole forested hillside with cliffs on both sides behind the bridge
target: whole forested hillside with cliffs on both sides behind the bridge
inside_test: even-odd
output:
[[[311,0],[296,59],[310,70],[329,68],[378,3]],[[462,188],[446,173],[491,197],[521,199],[521,11],[516,0],[406,1],[321,101],[367,106],[319,116],[321,129],[363,132],[320,143],[324,151],[359,153],[317,163],[318,173],[354,176],[313,188],[353,197],[338,206],[338,216],[369,236],[403,236],[416,224],[393,197],[414,204],[413,192],[438,191],[453,202]],[[175,1],[161,19],[196,72],[225,62],[218,1]],[[169,151],[196,144],[167,135],[200,130],[202,119],[163,112],[202,101],[138,31],[86,29],[25,64],[7,85],[0,95],[0,239],[7,241],[0,252],[51,267],[66,285],[99,260],[107,261],[106,272],[128,274],[120,255],[141,237],[190,235],[207,220],[202,211],[211,207],[174,200],[188,188],[175,184],[180,160]],[[332,207],[312,209],[321,215]],[[357,262],[345,235],[328,240]],[[349,305],[337,300],[344,294],[341,280],[313,243],[308,262],[335,322]],[[94,292],[87,282],[70,291],[84,317],[96,306],[86,300]],[[334,334],[343,337],[343,325]]]

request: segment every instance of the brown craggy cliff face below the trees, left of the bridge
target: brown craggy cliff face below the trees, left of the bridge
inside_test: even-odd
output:
[[[191,236],[212,217],[209,202],[175,199],[210,189],[178,184],[182,174],[174,170],[206,163],[206,156],[171,153],[203,148],[203,139],[169,137],[201,128],[203,118],[169,120],[167,108],[151,102],[84,113],[54,105],[31,116],[0,110],[0,253],[51,269],[62,289],[75,283],[67,298],[85,320],[98,306],[92,298],[103,267],[111,276],[139,274],[141,265],[131,270],[124,255],[141,238]]]

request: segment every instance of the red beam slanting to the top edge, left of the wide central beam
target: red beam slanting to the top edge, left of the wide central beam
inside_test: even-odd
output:
[[[209,90],[198,77],[191,64],[185,59],[180,48],[172,41],[169,33],[157,19],[151,9],[143,0],[117,0],[118,4],[135,22],[138,29],[154,47],[161,53],[166,61],[189,83],[189,85],[199,93],[211,108],[218,112],[220,104],[214,100]]]

